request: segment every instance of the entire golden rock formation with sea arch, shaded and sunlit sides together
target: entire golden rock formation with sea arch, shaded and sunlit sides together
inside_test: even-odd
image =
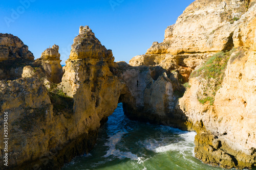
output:
[[[9,115],[9,168],[58,169],[90,151],[119,102],[130,118],[197,131],[195,156],[205,163],[256,166],[253,2],[194,2],[164,41],[131,65],[115,63],[81,26],[61,82],[57,45],[34,62],[22,41],[2,34],[0,116]]]

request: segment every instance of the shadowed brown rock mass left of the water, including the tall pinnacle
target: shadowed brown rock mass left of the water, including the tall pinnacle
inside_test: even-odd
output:
[[[9,169],[59,169],[74,156],[89,152],[100,125],[117,107],[125,85],[111,72],[115,65],[112,52],[88,27],[80,27],[71,58],[59,84],[54,78],[58,69],[52,66],[60,62],[57,45],[20,68],[19,77],[0,81],[0,116],[8,112],[11,133]],[[3,160],[3,142],[0,147]],[[6,168],[2,163],[0,167]]]

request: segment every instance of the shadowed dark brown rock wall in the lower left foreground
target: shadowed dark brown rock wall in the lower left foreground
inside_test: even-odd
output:
[[[49,136],[43,129],[47,130],[45,125],[52,122],[53,112],[48,92],[38,79],[0,81],[0,84],[1,116],[4,116],[4,111],[8,112],[8,129],[11,133],[8,143],[9,167],[13,167],[46,152]],[[0,124],[4,126],[3,121]],[[1,133],[3,131],[4,128],[1,128]],[[4,156],[2,153],[1,157]],[[1,168],[4,168],[3,164]]]

